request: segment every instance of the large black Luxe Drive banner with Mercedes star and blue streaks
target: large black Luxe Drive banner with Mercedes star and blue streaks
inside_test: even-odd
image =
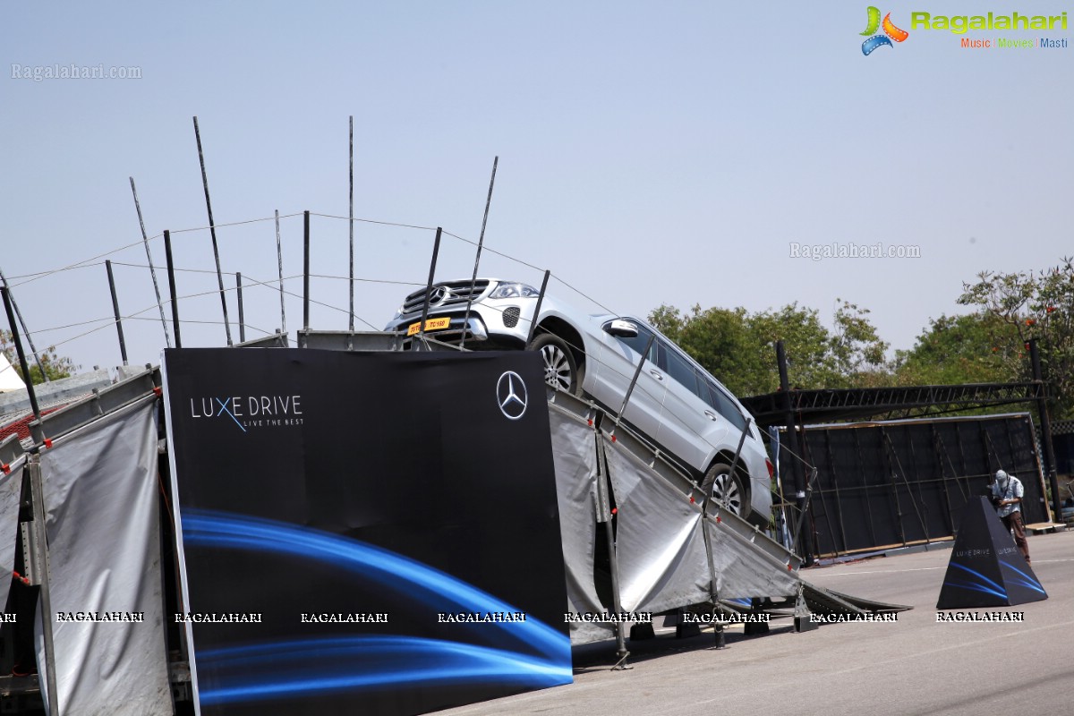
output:
[[[571,681],[539,357],[164,353],[202,714],[419,714]]]

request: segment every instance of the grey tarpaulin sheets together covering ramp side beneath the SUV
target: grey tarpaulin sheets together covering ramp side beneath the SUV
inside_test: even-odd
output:
[[[550,405],[568,611],[611,612],[594,585],[598,454],[608,467],[616,507],[614,566],[624,612],[667,612],[717,599],[794,597],[801,585],[797,558],[735,515],[691,501],[696,485],[676,483],[576,414]],[[711,568],[710,555],[711,550]],[[570,641],[608,639],[611,625],[572,624]]]

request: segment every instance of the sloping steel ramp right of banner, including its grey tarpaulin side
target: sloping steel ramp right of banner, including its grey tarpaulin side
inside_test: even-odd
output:
[[[790,616],[787,608],[799,617],[908,609],[808,583],[798,555],[712,503],[696,480],[592,401],[549,389],[549,420],[574,644],[622,641],[626,627],[657,613],[734,622],[756,612]],[[612,536],[610,591],[597,576],[601,531]]]

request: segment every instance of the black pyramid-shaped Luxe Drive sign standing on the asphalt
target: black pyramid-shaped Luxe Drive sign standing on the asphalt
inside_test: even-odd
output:
[[[988,498],[971,497],[937,609],[1013,607],[1047,598]]]

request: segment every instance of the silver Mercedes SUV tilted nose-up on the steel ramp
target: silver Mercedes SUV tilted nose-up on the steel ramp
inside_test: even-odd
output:
[[[622,420],[703,483],[737,514],[767,524],[772,464],[760,432],[730,391],[644,321],[586,315],[546,295],[531,332],[539,291],[493,278],[442,281],[406,297],[386,331],[429,334],[480,349],[540,351],[546,381],[593,398],[618,414],[643,361]],[[529,336],[533,335],[533,338]],[[652,341],[650,342],[650,338]],[[642,359],[641,354],[649,347]],[[743,429],[739,467],[731,464]]]

